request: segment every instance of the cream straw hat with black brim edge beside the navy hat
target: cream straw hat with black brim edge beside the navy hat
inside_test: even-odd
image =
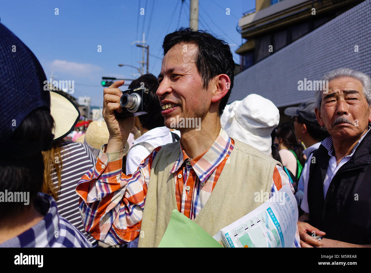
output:
[[[52,129],[53,142],[67,136],[75,128],[80,118],[79,109],[64,92],[57,93],[52,90],[50,90],[50,114],[55,122],[55,127]]]

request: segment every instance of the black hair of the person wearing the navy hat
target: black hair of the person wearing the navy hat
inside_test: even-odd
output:
[[[50,110],[38,108],[32,111],[14,131],[12,140],[18,143],[46,142],[52,134],[53,117]],[[33,204],[44,180],[44,160],[40,152],[19,160],[0,161],[0,192],[29,192],[29,205],[24,202],[0,202],[0,220],[24,212]],[[4,196],[7,198],[8,196]]]

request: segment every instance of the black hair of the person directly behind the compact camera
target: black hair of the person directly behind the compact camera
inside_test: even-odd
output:
[[[165,119],[161,114],[160,101],[156,95],[156,91],[159,86],[158,79],[153,74],[145,74],[132,81],[129,85],[129,88],[141,86],[142,82],[144,83],[144,87],[148,88],[148,94],[150,97],[148,107],[150,113],[138,116],[139,121],[141,122],[142,126],[148,130],[165,126]]]

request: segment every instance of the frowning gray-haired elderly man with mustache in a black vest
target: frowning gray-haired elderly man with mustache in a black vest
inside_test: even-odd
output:
[[[315,113],[330,137],[308,160],[301,246],[371,247],[371,78],[338,68],[323,80]]]

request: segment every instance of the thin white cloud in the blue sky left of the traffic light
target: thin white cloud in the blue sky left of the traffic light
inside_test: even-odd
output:
[[[54,71],[59,71],[75,76],[86,76],[94,72],[103,71],[99,65],[79,64],[77,62],[69,62],[65,60],[54,60],[50,64],[50,68]]]

